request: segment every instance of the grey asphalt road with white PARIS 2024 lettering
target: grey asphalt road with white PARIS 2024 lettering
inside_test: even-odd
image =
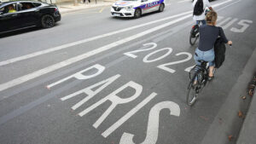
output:
[[[201,143],[255,50],[255,5],[212,2],[233,46],[194,107],[185,104],[197,45],[190,1],[136,20],[84,9],[1,37],[0,143]]]

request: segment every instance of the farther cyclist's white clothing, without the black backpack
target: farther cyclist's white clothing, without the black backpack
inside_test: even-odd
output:
[[[208,9],[210,9],[211,11],[213,10],[213,9],[212,9],[212,6],[211,6],[211,4],[209,3],[208,0],[195,0],[195,1],[193,2],[193,8],[194,8],[194,10],[195,10],[195,3],[197,3],[197,1],[201,1],[201,2],[203,3],[203,10],[205,10],[207,7],[208,7]],[[195,13],[195,12],[194,12],[194,13]],[[199,14],[199,15],[195,15],[194,13],[193,13],[193,20],[196,21],[196,25],[199,25],[200,21],[201,21],[201,23],[202,23],[203,25],[206,25],[206,24],[207,24],[207,23],[206,23],[206,20],[205,20],[205,13],[204,13],[204,12],[202,12],[202,13]]]

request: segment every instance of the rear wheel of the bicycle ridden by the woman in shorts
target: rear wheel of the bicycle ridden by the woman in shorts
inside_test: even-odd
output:
[[[187,104],[189,106],[192,106],[195,103],[196,97],[198,95],[198,86],[194,83],[195,81],[189,82],[187,89]]]

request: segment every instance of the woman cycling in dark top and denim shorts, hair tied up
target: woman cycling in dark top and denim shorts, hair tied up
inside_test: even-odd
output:
[[[225,37],[224,31],[221,27],[216,26],[218,15],[215,11],[210,11],[207,16],[207,25],[199,27],[200,40],[199,46],[195,49],[195,63],[196,65],[201,65],[199,60],[205,60],[209,62],[209,78],[211,80],[213,76],[214,69],[214,43],[220,36],[224,43],[232,44],[232,41]]]

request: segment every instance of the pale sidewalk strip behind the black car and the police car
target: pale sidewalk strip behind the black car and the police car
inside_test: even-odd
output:
[[[73,2],[67,2],[67,3],[56,3],[57,7],[59,8],[61,14],[79,11],[83,9],[90,9],[90,8],[104,8],[107,6],[111,6],[115,0],[106,0],[106,1],[95,1],[92,0],[90,3],[88,3],[88,0],[86,0],[86,3],[80,3],[80,0],[78,0],[78,5],[74,6]]]

